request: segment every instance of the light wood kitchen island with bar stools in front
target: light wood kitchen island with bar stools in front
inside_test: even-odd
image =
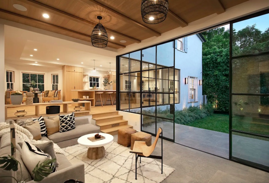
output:
[[[111,94],[112,96],[112,102],[114,100],[114,98],[116,97],[116,90],[72,90],[71,91],[71,96],[72,96],[72,99],[81,99],[81,100],[89,100],[91,101],[91,105],[92,107],[95,107],[95,99],[97,98],[97,95],[96,92],[104,92],[101,94],[101,97],[102,97],[102,102],[103,102],[103,105],[105,105],[105,100],[106,98],[108,97],[108,100],[110,100],[110,97],[108,96],[109,94],[106,94],[106,92],[113,92]],[[88,99],[83,99],[83,96],[89,96]],[[100,100],[99,96],[98,96],[98,100]],[[116,100],[114,102],[114,104],[116,104]],[[96,102],[96,105],[97,106],[101,106],[101,102]],[[107,101],[106,105],[111,105],[110,101]]]

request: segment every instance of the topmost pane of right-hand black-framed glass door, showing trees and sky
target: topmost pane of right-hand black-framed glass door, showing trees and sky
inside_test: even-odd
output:
[[[269,51],[267,20],[269,14],[233,24],[232,56]]]

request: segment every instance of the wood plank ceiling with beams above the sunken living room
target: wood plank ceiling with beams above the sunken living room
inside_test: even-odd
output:
[[[141,0],[1,0],[0,18],[91,41],[91,32],[98,23],[96,17],[101,15],[101,24],[109,36],[108,47],[119,49],[177,27],[188,26],[188,23],[208,15],[221,14],[245,1],[192,0],[190,3],[169,0],[166,20],[149,25],[141,18]],[[15,9],[14,4],[25,6],[27,11]],[[44,18],[44,13],[49,18]],[[110,39],[111,36],[115,39]]]

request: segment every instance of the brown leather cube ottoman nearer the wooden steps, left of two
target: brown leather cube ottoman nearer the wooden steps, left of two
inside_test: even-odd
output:
[[[133,128],[122,128],[118,130],[118,144],[125,147],[131,146],[131,134],[136,133]]]

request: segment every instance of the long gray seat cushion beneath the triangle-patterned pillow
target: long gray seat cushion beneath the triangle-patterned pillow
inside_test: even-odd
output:
[[[48,136],[49,140],[52,140],[54,143],[57,142],[62,142],[65,140],[81,137],[86,134],[91,134],[91,133],[98,133],[99,128],[91,125],[91,124],[85,124],[85,125],[78,125],[76,129],[74,130],[69,130],[63,133],[55,133],[50,136]]]

